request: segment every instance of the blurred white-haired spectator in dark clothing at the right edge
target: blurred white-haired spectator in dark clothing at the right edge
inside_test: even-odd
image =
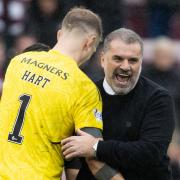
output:
[[[173,97],[177,131],[169,148],[173,176],[180,178],[180,74],[173,57],[173,42],[166,38],[157,38],[152,64],[144,68],[143,74],[165,87]]]

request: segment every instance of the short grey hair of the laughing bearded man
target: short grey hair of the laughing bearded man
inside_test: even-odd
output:
[[[134,31],[126,28],[120,28],[115,31],[112,31],[104,39],[103,51],[106,52],[110,48],[110,43],[114,39],[119,39],[127,44],[139,43],[141,47],[141,53],[143,55],[143,41],[141,37]]]

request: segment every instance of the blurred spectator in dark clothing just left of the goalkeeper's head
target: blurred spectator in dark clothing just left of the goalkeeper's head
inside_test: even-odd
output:
[[[38,41],[52,46],[64,10],[58,0],[32,0],[26,18],[26,31],[37,35]]]

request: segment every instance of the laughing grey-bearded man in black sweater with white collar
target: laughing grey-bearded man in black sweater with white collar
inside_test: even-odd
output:
[[[121,28],[106,37],[101,56],[105,78],[97,83],[104,105],[104,140],[79,131],[80,136],[63,141],[65,158],[95,158],[126,180],[171,179],[167,148],[174,128],[172,98],[140,76],[142,56],[143,43],[135,32]],[[96,143],[89,148],[92,141]],[[83,161],[77,179],[94,179],[92,166]]]

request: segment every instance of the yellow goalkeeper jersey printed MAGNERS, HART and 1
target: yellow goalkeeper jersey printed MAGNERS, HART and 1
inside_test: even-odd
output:
[[[0,179],[60,179],[60,141],[102,129],[102,101],[76,62],[56,50],[12,59],[0,102]]]

